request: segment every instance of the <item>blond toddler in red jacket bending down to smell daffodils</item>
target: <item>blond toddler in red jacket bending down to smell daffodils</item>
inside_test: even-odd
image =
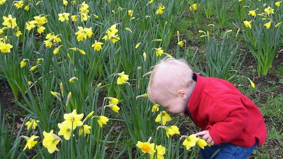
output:
[[[166,111],[189,116],[211,147],[202,158],[248,158],[266,140],[266,126],[258,107],[230,82],[202,77],[180,59],[164,58],[154,67],[147,89],[152,103]]]

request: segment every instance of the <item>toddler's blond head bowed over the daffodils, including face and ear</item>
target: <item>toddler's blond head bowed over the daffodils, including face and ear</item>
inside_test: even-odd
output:
[[[195,82],[192,77],[193,71],[183,59],[164,58],[150,75],[148,99],[171,113],[183,113]]]

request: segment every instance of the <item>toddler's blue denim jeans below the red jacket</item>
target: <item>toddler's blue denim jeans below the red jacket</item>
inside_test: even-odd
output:
[[[231,142],[221,143],[218,145],[213,145],[211,147],[206,146],[204,149],[199,148],[199,153],[202,159],[210,159],[215,151],[220,149],[213,159],[242,159],[248,158],[248,156],[255,150],[258,144],[258,139],[256,138],[256,143],[252,147],[242,147],[232,144]]]

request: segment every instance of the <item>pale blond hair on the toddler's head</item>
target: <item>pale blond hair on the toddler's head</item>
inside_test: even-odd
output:
[[[184,59],[165,57],[155,65],[148,83],[147,96],[157,103],[158,96],[177,94],[193,83],[193,71]]]

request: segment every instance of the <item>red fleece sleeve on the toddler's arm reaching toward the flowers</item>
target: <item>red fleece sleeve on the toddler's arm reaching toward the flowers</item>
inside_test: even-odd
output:
[[[214,145],[229,142],[240,135],[248,122],[248,111],[240,100],[228,98],[217,103],[211,113],[213,125],[208,125]]]

